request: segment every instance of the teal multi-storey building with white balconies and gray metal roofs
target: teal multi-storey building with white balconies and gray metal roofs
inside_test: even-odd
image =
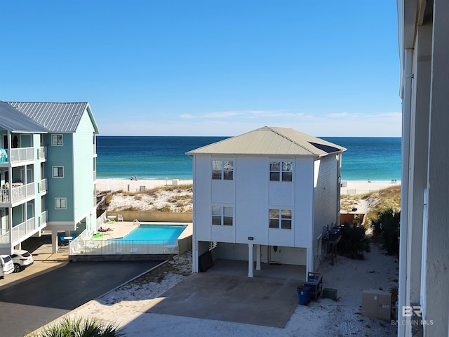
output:
[[[88,103],[0,101],[0,253],[96,226],[97,133]]]

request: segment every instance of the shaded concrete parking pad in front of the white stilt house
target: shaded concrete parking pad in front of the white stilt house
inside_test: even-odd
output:
[[[297,307],[297,281],[192,274],[147,312],[283,328]]]

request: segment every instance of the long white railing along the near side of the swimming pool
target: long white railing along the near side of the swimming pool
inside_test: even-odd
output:
[[[177,240],[74,239],[70,255],[177,254]]]

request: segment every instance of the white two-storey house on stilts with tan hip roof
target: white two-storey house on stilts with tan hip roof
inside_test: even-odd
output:
[[[316,270],[339,223],[344,147],[292,128],[262,127],[187,152],[193,157],[193,270],[210,259]],[[254,270],[255,264],[255,270]]]

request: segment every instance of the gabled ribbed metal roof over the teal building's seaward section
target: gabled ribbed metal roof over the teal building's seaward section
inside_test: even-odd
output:
[[[51,132],[75,132],[85,112],[98,128],[88,103],[6,102]]]

